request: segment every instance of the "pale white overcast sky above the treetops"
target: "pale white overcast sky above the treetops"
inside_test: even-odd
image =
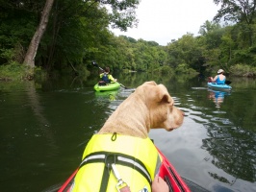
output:
[[[198,36],[206,20],[212,21],[219,10],[213,0],[141,0],[136,10],[138,27],[127,32],[111,31],[115,36],[131,36],[156,41],[166,46],[171,39],[187,33]]]

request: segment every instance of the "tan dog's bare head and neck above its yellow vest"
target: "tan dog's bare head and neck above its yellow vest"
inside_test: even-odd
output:
[[[141,84],[116,108],[99,133],[119,133],[146,138],[150,129],[172,131],[183,123],[184,113],[174,107],[166,86]]]

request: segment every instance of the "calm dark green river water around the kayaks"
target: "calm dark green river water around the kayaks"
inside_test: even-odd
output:
[[[55,191],[80,164],[90,136],[149,80],[165,84],[185,112],[179,129],[149,136],[192,191],[256,191],[255,80],[230,79],[233,90],[218,92],[197,77],[116,77],[128,89],[95,93],[95,78],[0,83],[0,191]]]

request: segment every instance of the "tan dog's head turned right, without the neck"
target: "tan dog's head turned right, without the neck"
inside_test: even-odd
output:
[[[135,93],[140,95],[148,108],[150,128],[165,128],[170,132],[182,125],[184,112],[174,106],[174,100],[165,85],[146,82]]]

